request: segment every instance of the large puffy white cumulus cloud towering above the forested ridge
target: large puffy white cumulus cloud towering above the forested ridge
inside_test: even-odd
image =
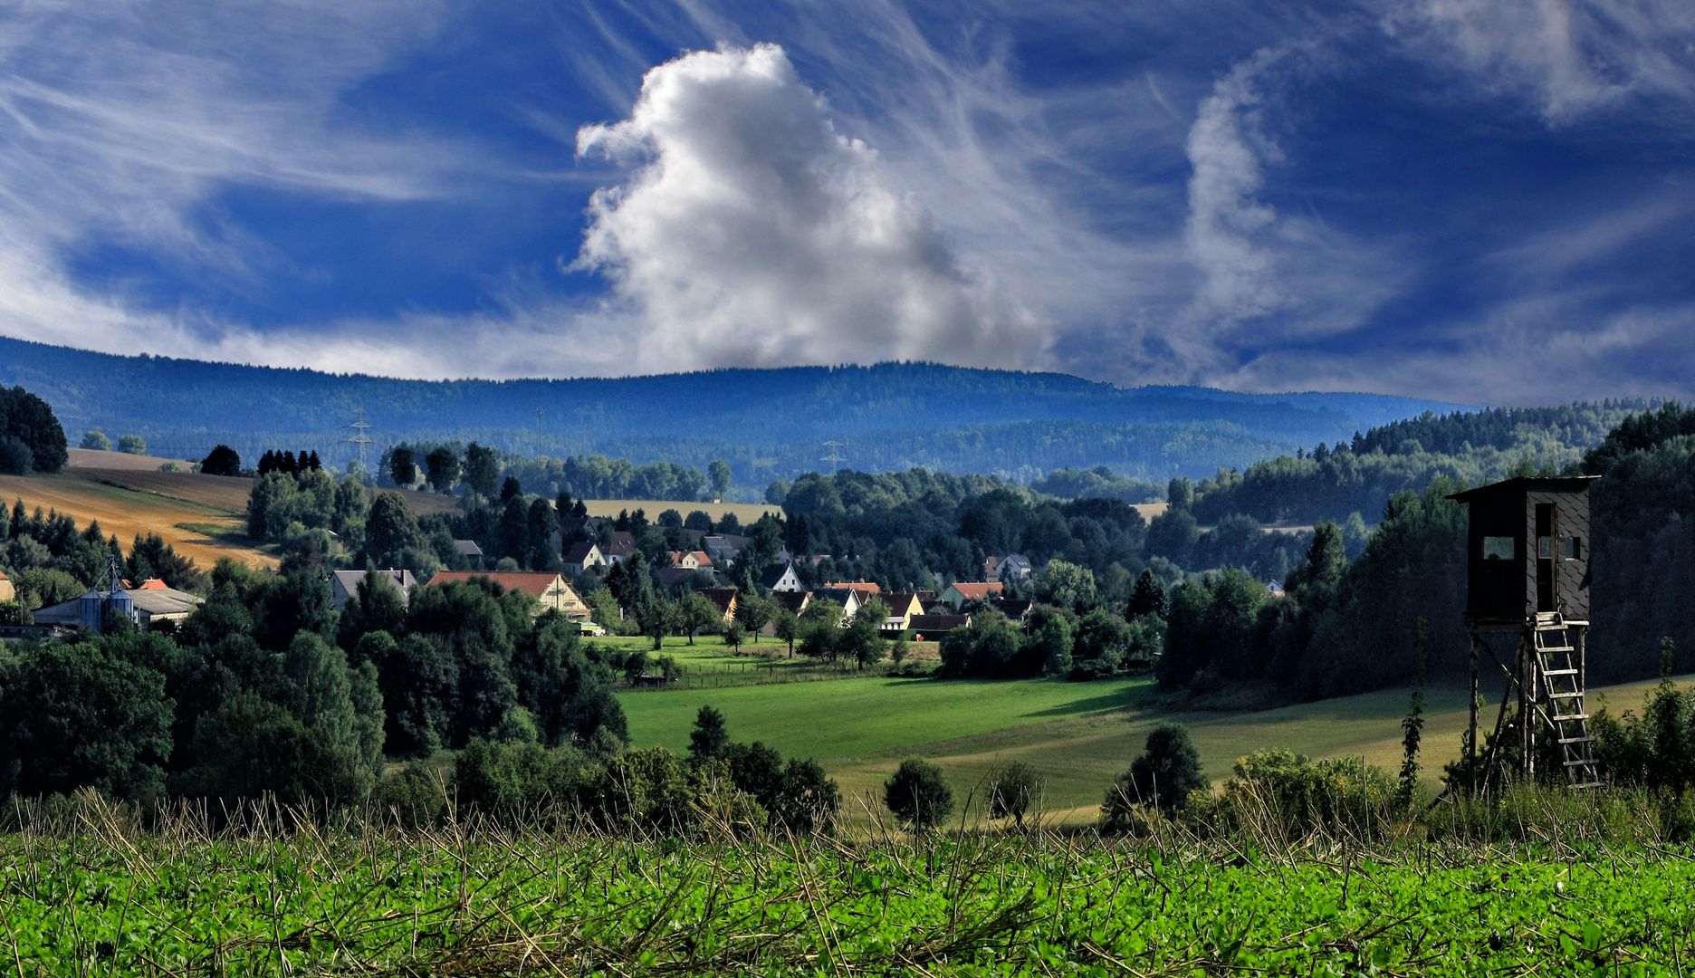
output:
[[[637,363],[1034,366],[1051,344],[836,131],[781,47],[654,68],[631,117],[585,127],[578,153],[632,168],[593,195],[575,268],[612,281]]]

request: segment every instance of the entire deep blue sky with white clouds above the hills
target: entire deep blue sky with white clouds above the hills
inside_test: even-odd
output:
[[[0,2],[0,334],[1695,395],[1695,5]]]

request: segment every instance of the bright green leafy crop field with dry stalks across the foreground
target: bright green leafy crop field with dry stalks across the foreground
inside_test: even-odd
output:
[[[85,807],[86,802],[81,802]],[[658,842],[302,819],[0,836],[5,973],[1685,973],[1683,846]]]

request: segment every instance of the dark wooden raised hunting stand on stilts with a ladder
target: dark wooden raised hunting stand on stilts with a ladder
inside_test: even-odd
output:
[[[1536,737],[1559,746],[1566,780],[1600,785],[1583,708],[1590,610],[1590,483],[1598,476],[1512,478],[1456,493],[1470,507],[1466,625],[1471,632],[1468,770],[1485,785],[1498,763],[1507,703],[1517,697],[1520,773],[1536,773]],[[1509,668],[1500,651],[1515,647]],[[1495,737],[1478,764],[1478,661],[1488,653],[1507,676]]]

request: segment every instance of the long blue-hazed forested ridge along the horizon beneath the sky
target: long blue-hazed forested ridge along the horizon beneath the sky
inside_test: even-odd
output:
[[[339,464],[353,458],[344,439],[356,408],[364,408],[378,447],[480,439],[556,458],[602,453],[700,466],[724,458],[744,488],[820,468],[825,441],[844,442],[844,464],[866,471],[927,466],[1027,481],[1056,468],[1105,464],[1151,480],[1202,476],[1454,408],[1359,393],[1117,388],[925,363],[414,381],[110,356],[3,337],[0,383],[46,398],[73,442],[100,427],[114,437],[141,434],[149,451],[175,458],[225,442],[244,458],[290,446]]]

